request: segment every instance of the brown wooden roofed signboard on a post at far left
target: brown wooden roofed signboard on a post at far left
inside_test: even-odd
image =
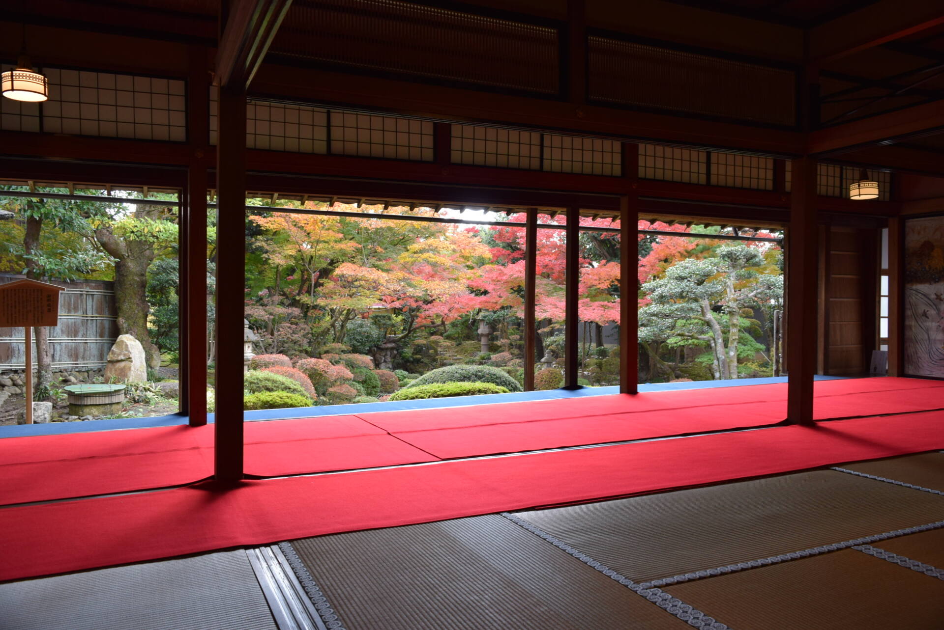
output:
[[[59,323],[61,287],[37,280],[0,285],[0,327],[23,326],[25,340],[26,423],[33,423],[33,326]]]

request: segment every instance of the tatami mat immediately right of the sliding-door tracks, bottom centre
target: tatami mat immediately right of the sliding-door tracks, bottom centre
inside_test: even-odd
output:
[[[500,516],[292,541],[347,630],[681,630]]]

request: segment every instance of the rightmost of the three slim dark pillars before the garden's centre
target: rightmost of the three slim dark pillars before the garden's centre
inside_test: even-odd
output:
[[[619,208],[619,393],[639,391],[638,232],[639,199],[633,193],[623,196]]]

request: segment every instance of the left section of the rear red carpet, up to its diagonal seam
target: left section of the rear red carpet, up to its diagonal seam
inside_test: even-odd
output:
[[[318,473],[432,461],[354,416],[246,423],[245,472]],[[213,427],[0,439],[0,506],[163,488],[213,473]]]

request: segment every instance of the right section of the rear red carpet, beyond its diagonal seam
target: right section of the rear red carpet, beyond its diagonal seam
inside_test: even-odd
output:
[[[889,392],[899,392],[892,395]],[[944,382],[913,378],[818,381],[818,420],[944,407]],[[778,423],[786,385],[358,414],[444,459]]]

